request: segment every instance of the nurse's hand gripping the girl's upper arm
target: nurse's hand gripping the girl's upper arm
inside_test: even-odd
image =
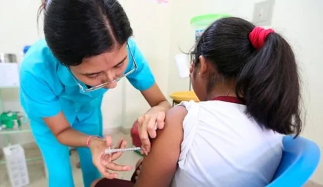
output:
[[[150,152],[150,138],[156,138],[156,130],[163,129],[165,125],[165,111],[157,111],[151,108],[143,116],[140,116],[136,123],[141,140],[141,152],[148,155]]]

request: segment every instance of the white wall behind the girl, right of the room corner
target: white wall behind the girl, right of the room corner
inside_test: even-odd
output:
[[[197,3],[199,2],[199,3]],[[168,93],[187,90],[188,80],[178,78],[174,54],[178,46],[188,51],[194,42],[194,32],[189,25],[191,17],[205,13],[229,13],[251,20],[253,4],[259,0],[175,0],[172,5],[171,51]],[[184,8],[185,5],[185,8]],[[307,112],[306,126],[302,136],[316,142],[323,150],[323,2],[320,0],[276,1],[271,27],[282,33],[292,44],[299,63],[303,81],[303,99]],[[312,179],[323,184],[323,162]]]

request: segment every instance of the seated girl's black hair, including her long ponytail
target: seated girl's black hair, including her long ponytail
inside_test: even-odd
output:
[[[219,78],[235,80],[236,95],[246,104],[249,116],[266,129],[296,137],[303,123],[295,55],[287,41],[275,32],[267,35],[259,50],[255,49],[249,39],[254,28],[252,23],[234,17],[212,23],[191,52],[194,74],[202,55],[216,70],[210,70],[208,91]]]

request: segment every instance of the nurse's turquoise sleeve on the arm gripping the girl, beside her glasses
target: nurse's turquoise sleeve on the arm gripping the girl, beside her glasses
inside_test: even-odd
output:
[[[134,60],[138,66],[137,70],[127,76],[129,82],[140,91],[144,91],[149,89],[151,86],[154,85],[155,79],[154,76],[149,68],[147,59],[143,56],[142,52],[138,48],[137,44],[133,40],[129,40],[128,44],[130,46],[130,50],[133,54]],[[129,54],[131,55],[131,54]],[[133,66],[133,59],[129,56],[129,64],[132,68]]]

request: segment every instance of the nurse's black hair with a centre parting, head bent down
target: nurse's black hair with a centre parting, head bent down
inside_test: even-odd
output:
[[[38,18],[41,12],[47,45],[65,66],[114,50],[133,35],[117,0],[42,0]]]

